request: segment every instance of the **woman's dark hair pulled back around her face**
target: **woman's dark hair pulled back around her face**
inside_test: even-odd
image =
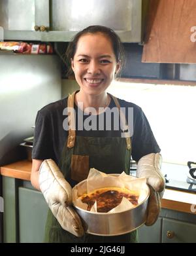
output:
[[[116,62],[120,62],[121,68],[122,68],[123,60],[124,60],[124,49],[123,49],[122,42],[120,41],[120,37],[114,32],[113,29],[109,27],[99,26],[99,25],[89,26],[83,29],[82,31],[78,32],[73,37],[73,40],[67,46],[67,50],[65,52],[65,62],[67,64],[67,69],[68,69],[67,76],[73,75],[73,70],[71,68],[71,59],[74,58],[74,54],[76,53],[77,43],[80,37],[86,33],[95,34],[98,32],[103,33],[110,39],[113,50],[114,50],[114,54],[116,56]],[[119,77],[119,75],[120,75],[120,71],[118,72],[116,77]]]

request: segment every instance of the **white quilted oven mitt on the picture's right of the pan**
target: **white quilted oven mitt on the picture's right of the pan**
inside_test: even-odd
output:
[[[146,225],[157,221],[161,211],[161,198],[165,189],[165,178],[161,174],[162,157],[159,153],[142,156],[137,164],[137,177],[145,177],[150,187]]]

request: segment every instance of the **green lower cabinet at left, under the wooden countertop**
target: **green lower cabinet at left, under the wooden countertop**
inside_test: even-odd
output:
[[[3,242],[43,242],[48,206],[29,181],[3,177]]]

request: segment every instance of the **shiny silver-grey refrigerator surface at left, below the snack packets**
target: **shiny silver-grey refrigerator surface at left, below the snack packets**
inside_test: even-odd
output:
[[[0,53],[0,166],[22,158],[37,111],[61,98],[59,58]]]

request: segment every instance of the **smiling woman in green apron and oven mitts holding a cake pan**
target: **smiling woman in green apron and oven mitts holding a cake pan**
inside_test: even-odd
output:
[[[35,125],[31,183],[50,207],[45,242],[137,242],[137,231],[121,236],[86,234],[71,208],[70,185],[86,179],[90,168],[129,174],[132,155],[139,161],[137,176],[146,177],[150,185],[146,224],[152,225],[159,214],[164,179],[148,120],[137,105],[106,93],[122,67],[122,44],[112,29],[90,26],[74,37],[67,58],[80,90],[43,107]],[[110,109],[120,115],[108,118]],[[133,109],[131,121],[128,109]]]

